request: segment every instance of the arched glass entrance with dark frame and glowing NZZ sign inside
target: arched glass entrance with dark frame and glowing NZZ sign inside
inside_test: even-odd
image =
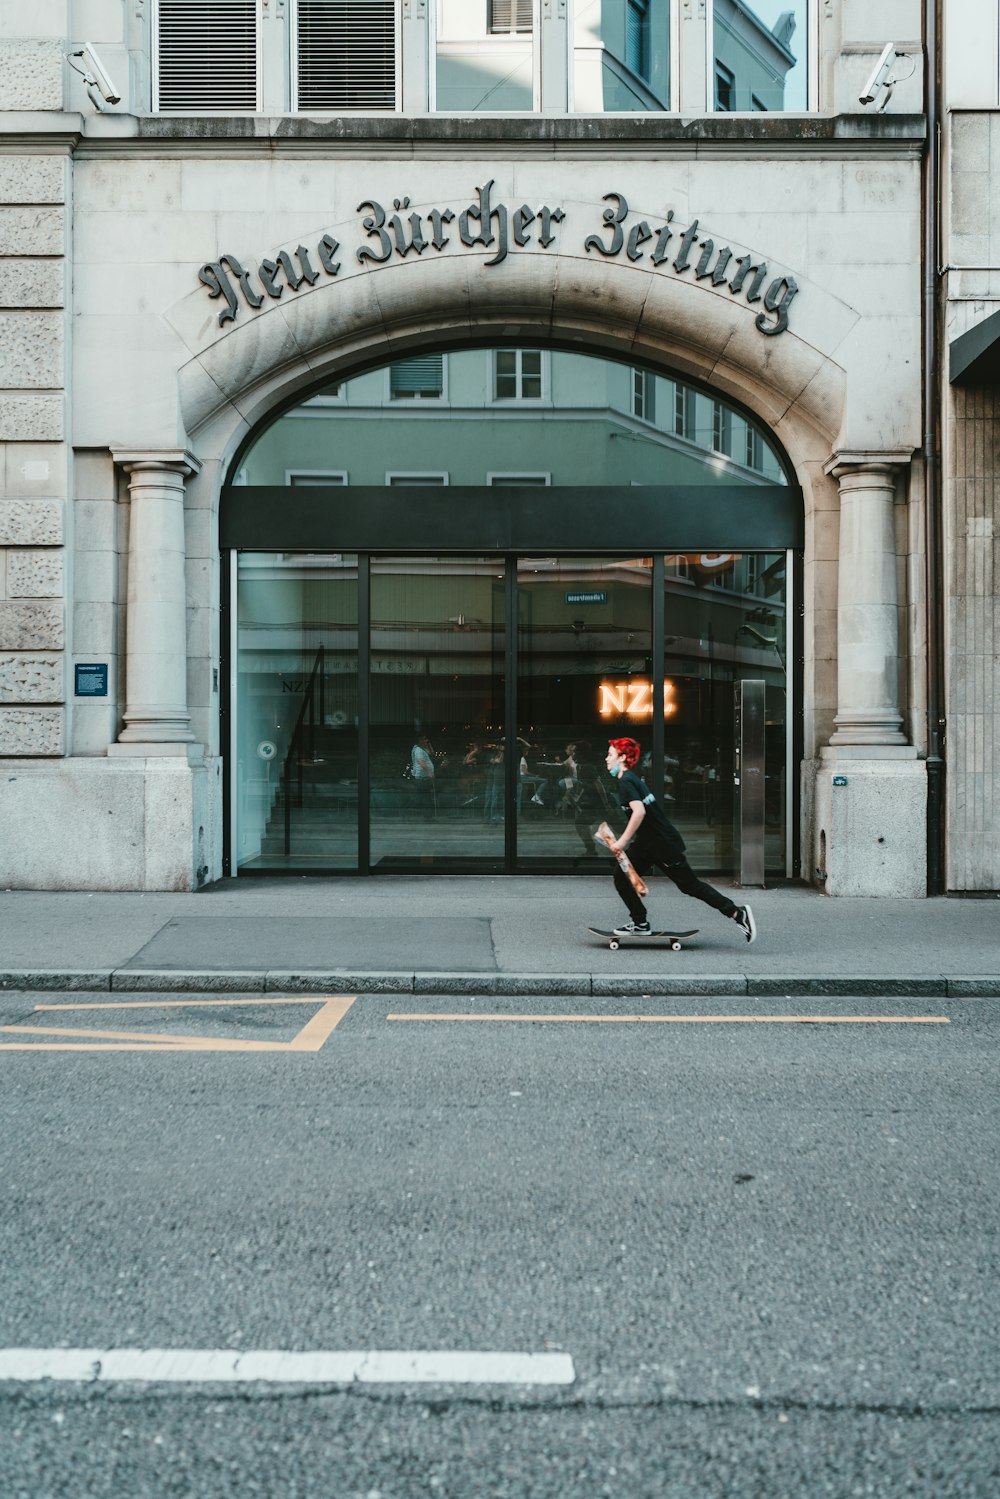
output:
[[[600,868],[619,733],[730,872],[742,681],[768,872],[795,872],[802,496],[745,409],[645,363],[466,345],[298,397],[229,477],[231,872]]]

